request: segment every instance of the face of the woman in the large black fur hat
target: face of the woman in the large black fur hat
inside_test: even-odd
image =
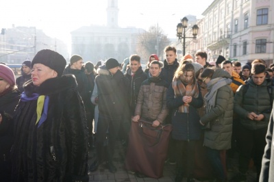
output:
[[[47,79],[57,77],[55,70],[44,64],[34,64],[32,68],[32,82],[34,86],[40,86]]]

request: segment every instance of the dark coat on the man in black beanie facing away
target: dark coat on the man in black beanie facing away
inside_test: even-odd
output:
[[[112,76],[109,70],[100,69],[95,78],[98,90],[98,107],[100,115],[108,118],[122,118],[127,105],[127,88],[129,80],[120,70]]]

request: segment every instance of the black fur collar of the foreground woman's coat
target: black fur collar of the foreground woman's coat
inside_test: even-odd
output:
[[[27,94],[27,96],[30,96],[33,93],[51,95],[69,88],[75,90],[77,88],[77,82],[74,75],[64,75],[62,77],[47,79],[40,86],[34,86],[32,80],[29,80],[24,84],[25,94]]]

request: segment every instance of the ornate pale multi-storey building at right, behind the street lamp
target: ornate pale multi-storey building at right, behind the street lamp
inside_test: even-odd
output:
[[[196,51],[206,51],[208,61],[216,61],[223,55],[242,63],[263,59],[271,64],[273,10],[272,0],[215,0],[203,12],[204,18],[197,22],[197,40],[191,41],[189,46],[195,45]]]

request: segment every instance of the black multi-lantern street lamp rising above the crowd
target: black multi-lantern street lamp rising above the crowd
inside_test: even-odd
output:
[[[182,18],[181,23],[178,23],[177,25],[177,37],[178,40],[180,40],[180,42],[183,44],[183,55],[186,54],[186,38],[196,38],[199,29],[197,25],[193,25],[192,37],[186,37],[186,27],[188,27],[188,18],[184,17]]]

